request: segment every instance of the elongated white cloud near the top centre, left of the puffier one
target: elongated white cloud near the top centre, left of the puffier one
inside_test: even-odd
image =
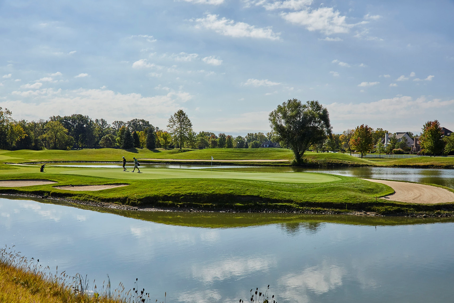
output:
[[[197,22],[197,28],[204,27],[208,30],[214,30],[216,33],[224,36],[230,36],[234,38],[249,37],[258,39],[269,39],[269,40],[280,40],[280,33],[275,33],[268,28],[256,28],[254,25],[249,25],[244,22],[237,22],[222,18],[218,19],[219,15],[207,14],[205,18],[199,18]]]

